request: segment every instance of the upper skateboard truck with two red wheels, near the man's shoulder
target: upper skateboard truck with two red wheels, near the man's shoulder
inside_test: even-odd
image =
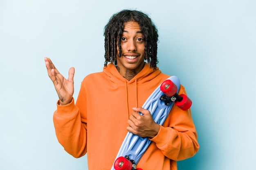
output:
[[[177,86],[171,80],[164,81],[160,86],[160,90],[164,93],[160,100],[164,101],[165,105],[175,102],[182,110],[187,110],[191,107],[192,101],[185,94],[178,95]]]

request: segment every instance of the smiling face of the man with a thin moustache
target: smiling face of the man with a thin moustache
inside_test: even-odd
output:
[[[121,37],[121,57],[117,50],[117,65],[122,76],[126,72],[140,72],[144,67],[145,41],[137,22],[126,22]]]

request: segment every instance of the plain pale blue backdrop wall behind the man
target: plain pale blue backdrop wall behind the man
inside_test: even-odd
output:
[[[200,150],[179,170],[256,169],[254,0],[0,0],[0,169],[87,169],[56,139],[44,57],[65,77],[75,67],[76,99],[83,77],[102,71],[103,28],[122,9],[152,18],[158,66],[193,100]]]

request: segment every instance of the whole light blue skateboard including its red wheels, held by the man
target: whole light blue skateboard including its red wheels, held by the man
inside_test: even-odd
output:
[[[162,125],[174,103],[182,110],[187,110],[192,105],[191,100],[186,95],[177,94],[179,89],[179,78],[176,76],[167,78],[148,97],[142,108],[149,110],[154,121]],[[150,143],[148,137],[139,137],[128,132],[111,170],[135,170],[136,164]],[[142,169],[137,168],[136,170]]]

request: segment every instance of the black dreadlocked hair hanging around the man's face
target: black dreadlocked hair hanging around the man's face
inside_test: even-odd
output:
[[[157,67],[157,28],[145,13],[136,10],[123,10],[114,14],[105,26],[105,66],[110,63],[117,65],[117,49],[121,57],[121,36],[126,22],[134,21],[140,26],[145,40],[145,58],[150,68]]]

